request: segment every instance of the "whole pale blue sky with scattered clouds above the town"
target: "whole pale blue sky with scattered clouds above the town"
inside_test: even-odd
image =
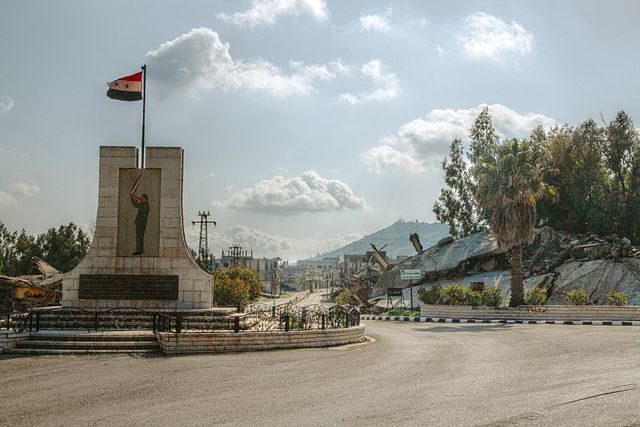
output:
[[[147,144],[185,150],[188,240],[295,260],[435,221],[440,164],[500,135],[640,120],[636,1],[0,0],[0,222],[95,222],[98,149],[140,144],[106,82],[147,64]]]

